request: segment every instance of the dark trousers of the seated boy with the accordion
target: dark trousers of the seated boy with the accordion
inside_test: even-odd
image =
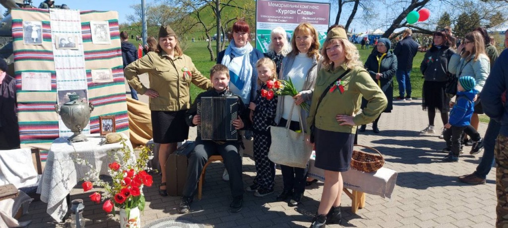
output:
[[[209,140],[201,140],[196,138],[196,147],[190,153],[187,167],[187,182],[183,187],[183,196],[192,197],[198,187],[198,180],[201,171],[205,166],[208,158],[212,155],[220,155],[224,159],[224,165],[229,173],[229,186],[231,196],[237,197],[243,195],[242,180],[242,159],[238,154],[239,144],[237,141],[217,144]]]

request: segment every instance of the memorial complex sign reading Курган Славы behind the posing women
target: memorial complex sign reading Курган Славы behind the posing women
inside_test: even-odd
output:
[[[256,2],[256,48],[261,52],[268,52],[272,29],[282,27],[290,38],[296,26],[304,21],[314,26],[319,34],[319,41],[323,45],[329,27],[330,4],[258,0]]]

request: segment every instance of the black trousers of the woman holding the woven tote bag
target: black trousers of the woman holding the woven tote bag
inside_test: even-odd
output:
[[[286,119],[280,119],[278,126],[285,127],[288,123]],[[291,121],[289,128],[293,131],[301,130],[300,123],[298,121]],[[294,191],[296,194],[303,194],[305,191],[305,181],[307,180],[307,169],[291,166],[280,165],[280,171],[282,171],[282,182],[284,183],[284,191]]]

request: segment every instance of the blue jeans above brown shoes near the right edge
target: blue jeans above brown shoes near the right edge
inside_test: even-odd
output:
[[[491,119],[483,138],[484,150],[482,161],[478,164],[477,170],[474,171],[474,174],[482,179],[487,178],[487,174],[489,174],[494,165],[494,146],[497,135],[499,135],[499,129],[501,129],[501,124]]]

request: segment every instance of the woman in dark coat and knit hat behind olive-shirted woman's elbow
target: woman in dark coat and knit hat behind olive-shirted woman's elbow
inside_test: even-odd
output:
[[[395,71],[397,71],[397,56],[390,51],[392,47],[392,43],[390,40],[386,38],[379,39],[377,41],[375,51],[367,58],[365,62],[365,69],[369,72],[370,77],[377,83],[377,85],[383,90],[386,98],[388,99],[388,105],[383,112],[392,112],[392,100],[393,100],[393,82],[392,78],[395,75]],[[366,107],[367,100],[362,98],[362,108]],[[372,131],[374,133],[379,133],[379,128],[377,128],[377,122],[379,121],[379,117],[372,124]],[[365,131],[367,125],[362,125],[358,131]]]

